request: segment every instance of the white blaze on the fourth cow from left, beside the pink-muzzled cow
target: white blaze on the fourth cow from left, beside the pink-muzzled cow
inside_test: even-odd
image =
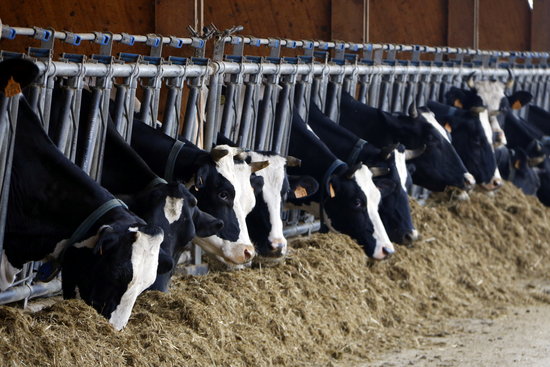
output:
[[[284,256],[287,252],[287,241],[283,234],[283,220],[281,219],[281,191],[286,175],[286,159],[278,155],[265,155],[257,152],[249,154],[252,162],[269,162],[269,165],[256,172],[256,175],[264,179],[262,197],[267,205],[269,223],[271,224],[268,240],[271,243],[283,244],[284,248],[281,253]]]

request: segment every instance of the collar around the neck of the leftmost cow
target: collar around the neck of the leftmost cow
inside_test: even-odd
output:
[[[49,282],[50,280],[52,280],[61,270],[61,264],[63,262],[63,258],[67,249],[73,246],[75,243],[83,240],[84,235],[88,233],[88,231],[97,223],[97,221],[101,217],[107,214],[107,212],[109,212],[110,210],[118,207],[124,207],[125,209],[128,209],[126,204],[124,204],[121,200],[111,199],[103,203],[99,208],[88,215],[88,217],[86,217],[86,219],[84,219],[84,221],[80,223],[80,225],[76,228],[71,237],[63,243],[59,255],[49,258],[40,266],[36,275],[37,279],[41,282]]]

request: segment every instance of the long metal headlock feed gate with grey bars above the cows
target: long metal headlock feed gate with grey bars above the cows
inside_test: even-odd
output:
[[[1,25],[1,23],[0,23]],[[223,32],[211,26],[206,35],[180,38],[105,32],[71,33],[52,29],[17,28],[2,25],[2,38],[28,36],[41,47],[27,54],[0,51],[0,59],[25,57],[36,61],[40,77],[26,92],[46,131],[54,85],[63,101],[61,129],[53,139],[58,148],[87,174],[101,177],[101,163],[108,114],[127,141],[131,137],[134,111],[141,120],[159,125],[172,137],[183,137],[210,150],[222,132],[239,146],[249,149],[288,151],[293,109],[307,120],[313,101],[338,121],[342,91],[359,101],[390,112],[405,112],[415,101],[442,101],[451,86],[465,87],[465,76],[504,80],[512,70],[514,90],[528,90],[534,104],[550,108],[548,53],[501,52],[388,44],[353,44],[310,40],[284,40],[236,36],[242,27]],[[205,58],[208,39],[213,55]],[[54,41],[72,45],[97,43],[99,53],[90,57],[63,54],[54,60]],[[113,42],[128,46],[145,43],[149,55],[111,55]],[[225,52],[232,46],[231,53]],[[191,46],[195,57],[162,57],[163,46]],[[246,56],[244,48],[267,47],[269,56]],[[294,57],[281,50],[295,49]],[[169,54],[169,51],[165,53]],[[85,155],[76,162],[76,136],[83,88],[92,93],[91,112],[86,116]],[[136,95],[141,91],[140,106]],[[165,91],[165,92],[163,92]],[[161,92],[165,93],[160,106]],[[0,99],[0,252],[4,238],[10,168],[17,121],[18,98]],[[111,112],[110,112],[111,111]],[[416,194],[419,195],[418,193]],[[319,221],[298,211],[285,213],[286,236],[317,231]],[[197,256],[195,261],[200,261]],[[33,284],[36,264],[27,264],[14,287],[0,293],[0,304],[59,291],[60,281]]]

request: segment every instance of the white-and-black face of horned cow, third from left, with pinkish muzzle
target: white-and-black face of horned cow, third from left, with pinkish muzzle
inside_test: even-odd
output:
[[[237,148],[220,145],[213,152],[220,153],[220,158],[215,159],[215,170],[212,172],[210,166],[203,166],[209,172],[199,169],[195,195],[201,209],[222,219],[224,226],[218,235],[195,240],[225,262],[243,264],[255,255],[246,225],[246,216],[256,203],[250,183],[252,167],[241,159],[241,151]]]

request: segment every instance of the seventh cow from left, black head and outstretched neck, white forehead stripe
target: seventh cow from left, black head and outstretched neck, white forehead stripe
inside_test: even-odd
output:
[[[412,174],[416,185],[431,191],[443,191],[447,186],[469,189],[475,184],[472,175],[451,143],[445,131],[427,110],[409,109],[409,116],[393,116],[356,101],[343,92],[340,125],[378,148],[403,144],[414,151]],[[422,154],[419,154],[419,153]]]

